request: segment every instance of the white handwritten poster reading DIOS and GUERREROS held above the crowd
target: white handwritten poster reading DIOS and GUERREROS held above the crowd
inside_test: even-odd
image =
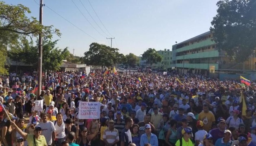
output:
[[[79,119],[100,118],[100,102],[79,102]]]

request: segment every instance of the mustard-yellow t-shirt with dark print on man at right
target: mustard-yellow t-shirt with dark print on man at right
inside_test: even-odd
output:
[[[215,122],[215,117],[214,117],[213,113],[210,111],[208,113],[201,112],[198,115],[198,120],[203,121],[204,130],[209,132],[212,127],[212,122]]]

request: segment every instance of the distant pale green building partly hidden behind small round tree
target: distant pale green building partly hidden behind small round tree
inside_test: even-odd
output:
[[[156,67],[158,69],[169,69],[171,68],[172,63],[172,52],[170,49],[164,49],[156,51],[160,56],[162,56],[163,60],[162,62],[157,62]]]

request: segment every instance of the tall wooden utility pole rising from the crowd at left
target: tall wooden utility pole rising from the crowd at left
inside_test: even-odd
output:
[[[43,24],[43,0],[40,0],[40,9],[39,9],[39,22]],[[42,59],[43,59],[43,38],[42,32],[39,33],[39,58],[38,58],[38,97],[41,94],[42,86]]]

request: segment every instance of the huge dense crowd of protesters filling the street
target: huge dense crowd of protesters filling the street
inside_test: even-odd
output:
[[[99,70],[43,77],[39,96],[33,73],[0,81],[4,146],[256,146],[254,82]],[[100,102],[100,118],[79,119],[80,101]]]

